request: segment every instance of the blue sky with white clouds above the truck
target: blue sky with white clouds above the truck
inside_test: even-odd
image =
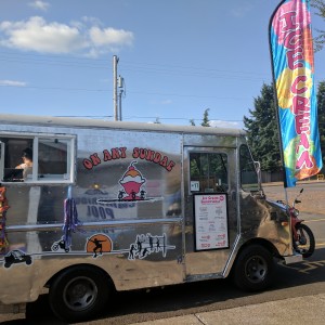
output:
[[[243,128],[278,0],[0,0],[0,113]],[[313,29],[325,21],[312,9]],[[314,36],[316,32],[313,30]],[[315,53],[315,84],[325,80]]]

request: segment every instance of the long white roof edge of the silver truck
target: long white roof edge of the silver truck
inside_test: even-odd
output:
[[[95,118],[79,117],[55,117],[55,116],[35,116],[35,115],[15,115],[0,114],[0,125],[29,125],[41,127],[69,127],[69,128],[91,128],[91,129],[120,129],[136,131],[158,131],[176,133],[199,133],[214,135],[245,135],[246,132],[240,129],[231,128],[207,128],[196,126],[174,126],[166,123],[145,123],[132,121],[110,121]],[[1,127],[0,127],[1,129]]]

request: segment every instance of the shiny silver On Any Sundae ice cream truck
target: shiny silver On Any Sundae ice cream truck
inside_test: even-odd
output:
[[[22,153],[32,166],[22,172]],[[297,262],[235,129],[0,115],[0,301],[48,294],[66,321],[114,290],[231,275],[262,290]]]

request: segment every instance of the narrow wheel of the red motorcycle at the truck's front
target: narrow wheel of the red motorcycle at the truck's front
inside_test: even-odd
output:
[[[315,250],[315,238],[310,227],[303,223],[296,225],[298,242],[294,239],[294,248],[301,253],[303,258],[309,258]]]

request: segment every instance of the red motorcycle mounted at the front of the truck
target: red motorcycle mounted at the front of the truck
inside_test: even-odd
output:
[[[298,197],[302,194],[302,192],[303,188],[300,190],[292,205],[287,206],[287,211],[290,216],[294,249],[301,253],[303,258],[309,258],[315,250],[315,238],[311,229],[302,223],[304,220],[298,218],[299,210],[296,208],[296,204],[301,203]],[[286,205],[283,202],[278,203]]]

